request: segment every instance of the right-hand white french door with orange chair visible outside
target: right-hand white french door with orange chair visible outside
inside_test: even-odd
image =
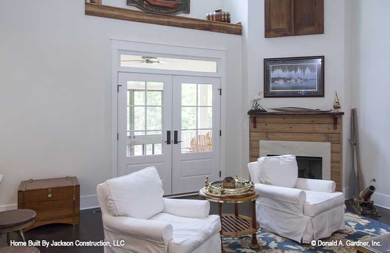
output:
[[[220,78],[174,76],[173,85],[172,194],[199,191],[220,176]]]

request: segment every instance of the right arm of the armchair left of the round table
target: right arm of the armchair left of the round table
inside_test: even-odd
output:
[[[208,217],[210,202],[207,200],[164,198],[164,210],[175,216],[203,219]]]

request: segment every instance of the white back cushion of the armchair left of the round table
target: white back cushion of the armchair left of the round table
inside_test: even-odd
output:
[[[164,191],[154,166],[109,179],[105,184],[107,208],[113,216],[149,219],[164,209]]]

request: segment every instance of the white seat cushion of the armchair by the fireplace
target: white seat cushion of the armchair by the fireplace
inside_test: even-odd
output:
[[[304,214],[310,217],[333,209],[344,204],[344,194],[342,192],[319,192],[319,191],[305,191],[306,203],[304,206]]]

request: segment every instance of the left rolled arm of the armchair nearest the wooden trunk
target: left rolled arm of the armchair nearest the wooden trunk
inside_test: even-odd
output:
[[[174,229],[172,225],[151,220],[135,219],[125,216],[103,215],[103,225],[106,229],[125,234],[129,237],[161,242],[167,244],[172,240]]]

